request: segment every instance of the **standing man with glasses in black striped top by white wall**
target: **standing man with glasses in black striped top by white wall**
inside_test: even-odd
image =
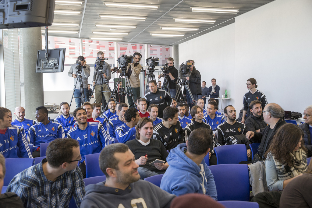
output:
[[[253,100],[259,100],[262,102],[262,109],[264,109],[264,106],[268,103],[266,100],[266,95],[257,90],[256,88],[258,87],[257,81],[254,78],[250,78],[247,80],[246,83],[247,89],[249,89],[248,92],[244,94],[244,100],[243,100],[243,118],[241,119],[241,123],[245,123],[245,115],[248,118],[251,115],[249,105],[251,101]]]

